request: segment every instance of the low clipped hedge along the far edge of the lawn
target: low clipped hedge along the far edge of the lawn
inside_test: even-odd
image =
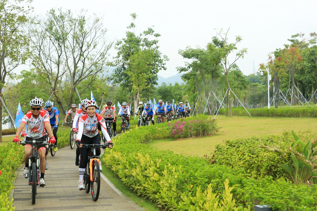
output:
[[[252,117],[317,117],[317,106],[283,106],[274,108],[247,109]],[[226,110],[220,109],[219,114],[225,114]],[[234,116],[249,116],[243,107],[232,108]]]

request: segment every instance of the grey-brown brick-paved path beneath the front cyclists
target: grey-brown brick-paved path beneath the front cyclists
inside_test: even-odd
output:
[[[111,188],[101,178],[98,201],[93,201],[91,193],[78,189],[78,167],[74,165],[75,149],[69,146],[58,149],[52,157],[49,153],[47,161],[49,169],[45,170],[45,187],[37,188],[36,203],[31,202],[31,186],[23,177],[24,166],[16,178],[14,189],[14,206],[16,211],[33,210],[112,210],[137,211],[144,210],[126,198],[116,188]]]

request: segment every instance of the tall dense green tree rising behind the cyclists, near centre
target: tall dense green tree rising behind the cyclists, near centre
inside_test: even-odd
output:
[[[158,38],[161,35],[155,33],[151,27],[139,35],[136,34],[134,20],[137,15],[132,13],[131,16],[133,22],[127,27],[128,31],[126,31],[126,37],[115,44],[115,49],[118,50],[118,53],[117,56],[114,57],[114,62],[112,64],[113,67],[115,67],[113,81],[129,91],[133,89],[133,82],[131,83],[131,76],[133,76],[131,71],[133,71],[133,68],[131,68],[131,65],[136,63],[136,57],[132,57],[134,54],[140,54],[140,52],[152,52],[153,54],[152,61],[148,65],[149,68],[146,70],[151,77],[146,78],[144,83],[145,86],[151,84],[157,85],[157,73],[161,69],[166,70],[165,61],[168,61],[167,56],[162,56],[162,53],[159,51]],[[130,62],[131,58],[134,58],[134,62]]]

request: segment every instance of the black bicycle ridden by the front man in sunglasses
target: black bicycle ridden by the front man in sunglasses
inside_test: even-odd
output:
[[[40,143],[40,144],[39,144]],[[35,204],[36,186],[40,187],[40,157],[37,152],[37,148],[40,145],[47,144],[47,141],[21,141],[21,144],[30,144],[32,146],[31,155],[29,156],[29,185],[32,186],[31,200],[32,204]],[[44,186],[42,186],[44,187]]]

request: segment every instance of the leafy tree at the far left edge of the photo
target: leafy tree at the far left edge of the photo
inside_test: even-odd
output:
[[[29,22],[31,0],[0,0],[0,95],[11,71],[28,58],[28,36],[23,26]],[[0,105],[0,142],[2,142],[2,104]]]

